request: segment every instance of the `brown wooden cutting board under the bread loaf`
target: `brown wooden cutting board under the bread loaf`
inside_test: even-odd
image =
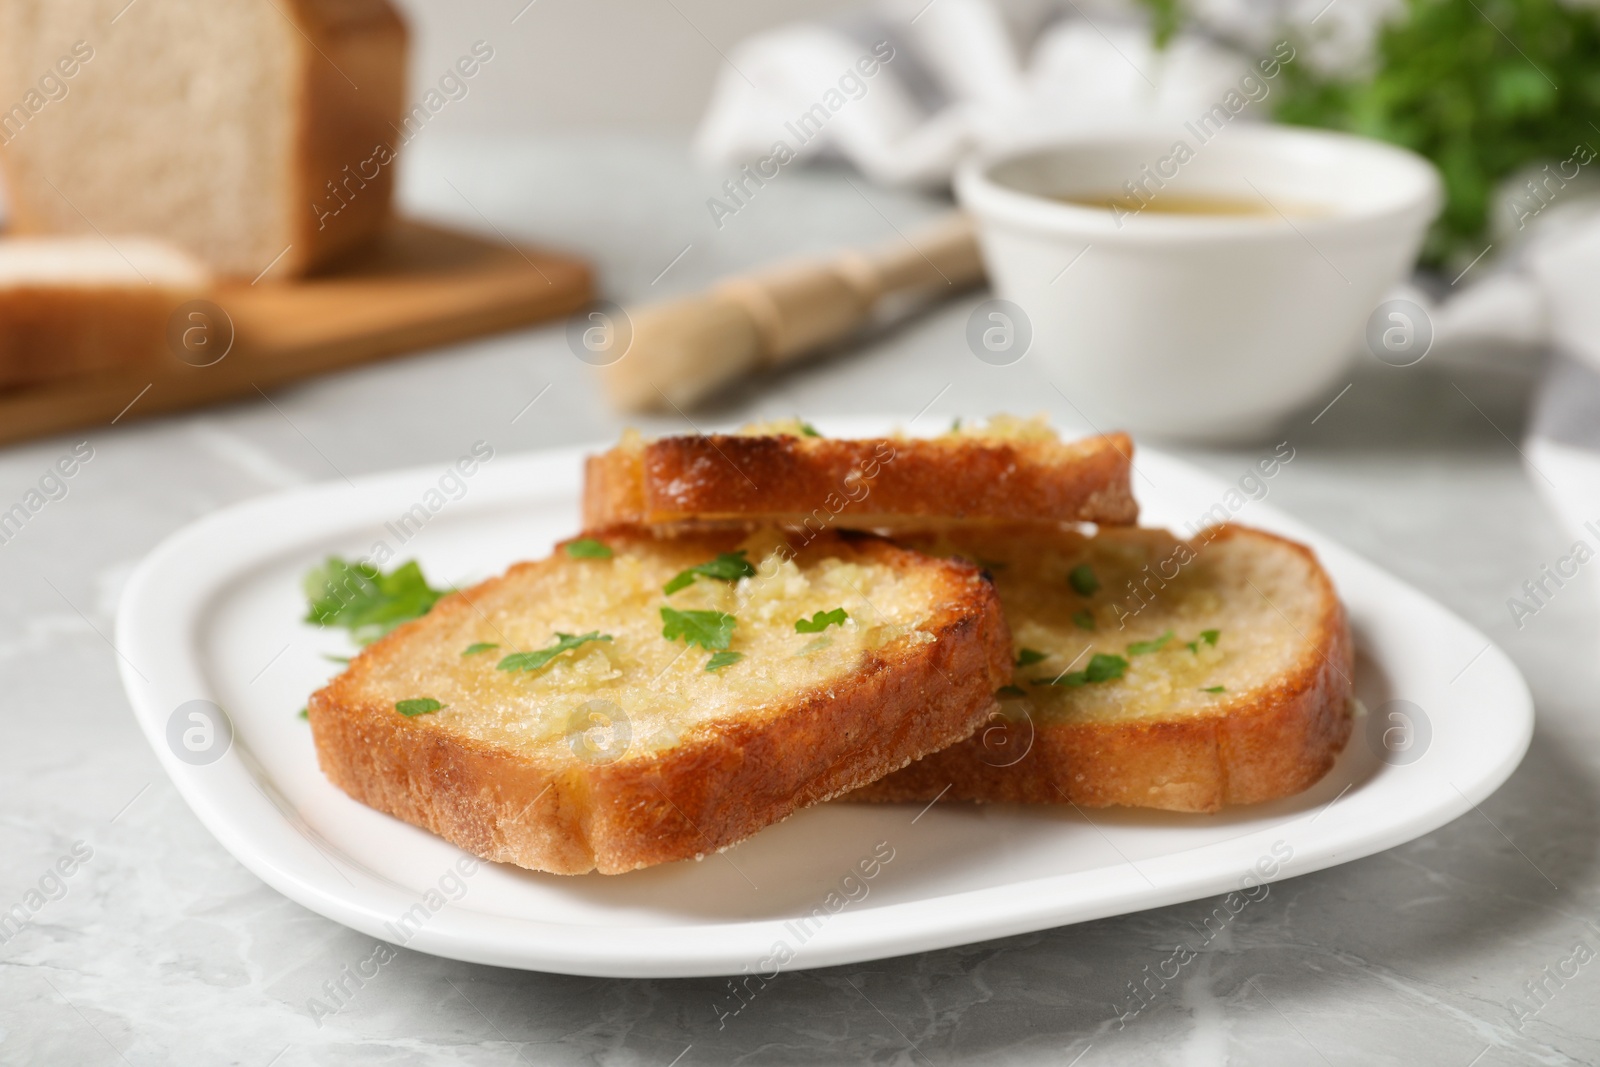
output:
[[[0,390],[0,443],[126,422],[310,378],[342,366],[568,315],[592,299],[579,259],[397,221],[328,274],[221,286],[197,330],[222,350],[208,366],[157,362]],[[200,334],[197,334],[198,338]],[[200,349],[205,352],[206,349]]]

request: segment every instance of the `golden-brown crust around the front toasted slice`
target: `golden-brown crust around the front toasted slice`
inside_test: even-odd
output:
[[[608,542],[626,537],[650,534],[606,531]],[[1011,670],[1011,637],[976,568],[875,537],[830,536],[806,552],[942,568],[944,595],[926,624],[936,640],[870,653],[845,685],[797,693],[760,721],[706,723],[666,752],[606,765],[512,753],[363,697],[366,670],[429,619],[474,611],[472,601],[512,573],[558,560],[525,563],[438,601],[310,697],[323,773],[355,800],[485,859],[621,873],[726,848],[968,736],[994,710]]]

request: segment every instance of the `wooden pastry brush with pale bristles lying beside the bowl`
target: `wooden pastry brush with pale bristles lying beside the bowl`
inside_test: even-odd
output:
[[[846,339],[885,298],[954,296],[982,274],[971,219],[950,214],[878,248],[726,278],[709,293],[635,312],[632,344],[605,368],[605,382],[629,411],[688,406],[758,366]]]

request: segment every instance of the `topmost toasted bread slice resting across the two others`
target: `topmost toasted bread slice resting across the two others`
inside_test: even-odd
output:
[[[1011,418],[933,438],[837,440],[808,429],[627,435],[589,458],[584,523],[778,523],[819,533],[1139,517],[1126,434],[1061,442],[1042,421]]]

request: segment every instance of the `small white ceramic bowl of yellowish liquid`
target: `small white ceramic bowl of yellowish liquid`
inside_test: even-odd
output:
[[[1416,259],[1440,181],[1419,155],[1363,138],[1237,125],[1197,144],[1181,133],[1083,134],[971,160],[957,195],[997,296],[1027,317],[1027,358],[1094,426],[1262,435],[1347,371],[1368,317]],[[1266,213],[1115,218],[1061,200],[1123,194],[1128,181],[1144,182],[1152,208],[1221,197]]]

